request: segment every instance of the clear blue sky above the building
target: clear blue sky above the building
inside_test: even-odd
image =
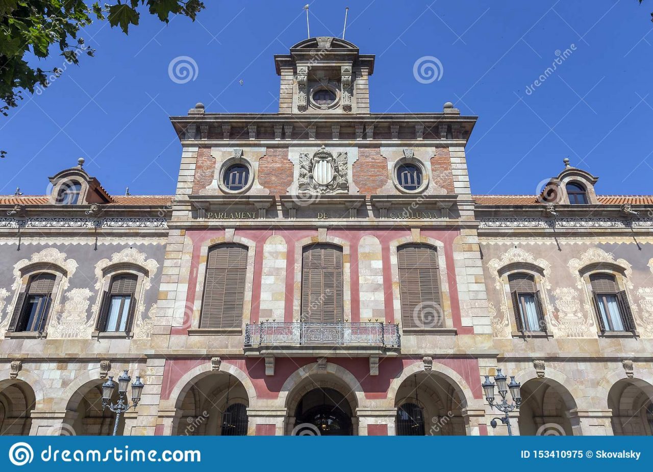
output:
[[[42,195],[78,157],[110,193],[173,193],[181,146],[168,116],[197,101],[208,112],[276,112],[272,56],[306,38],[305,1],[205,0],[195,23],[144,14],[128,37],[89,27],[96,57],[0,117],[0,193]],[[467,148],[473,193],[533,194],[564,157],[601,178],[598,193],[653,193],[653,2],[315,0],[311,36],[342,35],[345,6],[346,39],[376,55],[372,112],[441,112],[453,101],[479,116]],[[176,84],[168,65],[182,55],[197,78]],[[413,76],[423,56],[442,65],[430,84]]]

